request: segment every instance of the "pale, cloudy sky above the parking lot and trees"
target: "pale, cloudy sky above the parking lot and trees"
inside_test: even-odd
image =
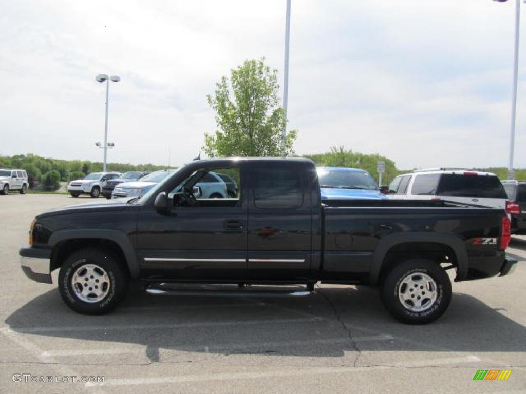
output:
[[[401,169],[506,167],[514,3],[292,0],[296,153],[343,146]],[[0,155],[102,161],[99,73],[122,78],[110,85],[108,161],[134,164],[196,157],[216,130],[206,95],[245,59],[264,57],[282,85],[286,0],[1,4]],[[515,168],[526,167],[525,67]]]

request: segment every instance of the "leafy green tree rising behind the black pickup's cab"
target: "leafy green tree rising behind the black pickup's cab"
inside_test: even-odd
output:
[[[286,125],[279,98],[277,70],[264,59],[245,60],[222,77],[207,100],[216,112],[218,130],[205,134],[205,152],[210,157],[289,156],[294,154],[296,130],[290,130],[281,146]]]

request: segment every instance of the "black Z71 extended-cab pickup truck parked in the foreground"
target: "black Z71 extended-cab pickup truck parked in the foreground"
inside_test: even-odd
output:
[[[227,174],[237,195],[200,199],[209,171]],[[181,187],[182,186],[182,187]],[[24,273],[52,283],[73,310],[102,314],[128,283],[163,292],[170,283],[379,286],[404,323],[432,322],[455,281],[512,272],[510,221],[502,210],[444,201],[320,202],[307,159],[194,161],[141,198],[60,208],[38,215]],[[245,288],[246,291],[246,288]]]

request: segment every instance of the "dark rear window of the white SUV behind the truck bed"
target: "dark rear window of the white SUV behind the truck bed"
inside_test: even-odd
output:
[[[504,186],[495,175],[442,174],[438,195],[507,199]]]

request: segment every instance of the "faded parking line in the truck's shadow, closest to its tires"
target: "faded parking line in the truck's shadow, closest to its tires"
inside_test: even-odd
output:
[[[225,326],[253,326],[258,324],[291,324],[321,322],[320,318],[297,318],[297,319],[267,319],[267,320],[228,320],[225,322],[203,322],[203,323],[176,323],[176,324],[129,324],[129,325],[105,325],[105,326],[63,326],[63,327],[34,327],[17,328],[10,331],[22,334],[40,333],[60,333],[63,331],[104,331],[116,330],[141,330],[141,329],[160,329],[160,328],[200,328],[200,327],[225,327]]]

